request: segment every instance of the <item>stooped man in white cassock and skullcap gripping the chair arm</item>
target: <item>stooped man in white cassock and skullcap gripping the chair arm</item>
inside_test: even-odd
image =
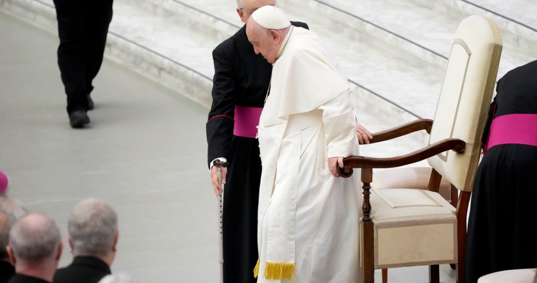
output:
[[[358,282],[357,187],[337,171],[358,149],[347,79],[274,6],[252,13],[246,34],[274,64],[258,126],[258,282]]]

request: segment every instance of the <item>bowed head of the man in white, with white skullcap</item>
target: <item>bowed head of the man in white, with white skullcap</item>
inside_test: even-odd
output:
[[[274,63],[289,28],[291,22],[284,12],[269,5],[252,13],[246,24],[246,35],[256,54],[261,53],[269,63]]]

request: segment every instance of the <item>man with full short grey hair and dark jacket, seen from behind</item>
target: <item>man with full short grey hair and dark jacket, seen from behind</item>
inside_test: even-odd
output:
[[[97,283],[111,274],[119,236],[114,209],[102,200],[84,200],[71,213],[68,229],[74,259],[56,272],[53,282]]]

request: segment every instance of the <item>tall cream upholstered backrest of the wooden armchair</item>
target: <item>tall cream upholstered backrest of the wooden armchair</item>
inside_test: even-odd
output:
[[[428,161],[462,191],[471,191],[474,183],[501,54],[502,35],[494,21],[482,16],[461,21],[449,54],[429,144],[455,138],[465,141],[466,148],[462,154],[449,150]]]

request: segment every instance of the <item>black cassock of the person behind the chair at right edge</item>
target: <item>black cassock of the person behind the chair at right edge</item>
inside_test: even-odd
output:
[[[483,144],[492,119],[509,114],[537,114],[537,61],[498,81]],[[466,283],[492,272],[537,267],[536,226],[537,147],[513,143],[491,147],[478,166],[471,197]]]

